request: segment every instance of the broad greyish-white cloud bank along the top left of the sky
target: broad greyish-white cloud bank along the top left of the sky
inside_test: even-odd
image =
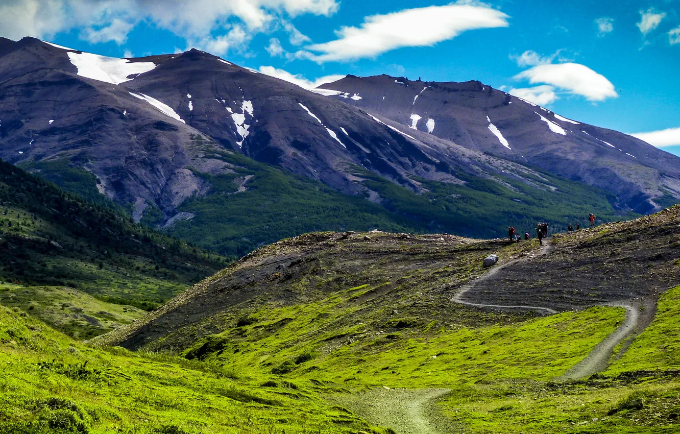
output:
[[[189,45],[215,47],[220,53],[277,22],[283,23],[292,42],[303,44],[309,38],[287,19],[301,14],[328,16],[338,7],[338,0],[0,0],[0,35],[49,39],[75,30],[93,44],[122,44],[129,31],[145,20],[185,37]],[[239,37],[244,31],[248,34]]]

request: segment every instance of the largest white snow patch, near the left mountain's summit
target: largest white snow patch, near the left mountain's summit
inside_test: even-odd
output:
[[[99,56],[92,53],[69,52],[71,63],[78,69],[81,77],[92,78],[111,84],[120,84],[133,80],[133,74],[139,76],[156,67],[153,62],[131,62],[127,59]]]

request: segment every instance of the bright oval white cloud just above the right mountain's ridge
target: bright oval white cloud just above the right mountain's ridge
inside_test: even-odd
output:
[[[568,93],[582,95],[590,101],[604,101],[619,95],[605,76],[579,63],[538,65],[523,71],[516,79],[526,79],[531,84],[549,84]]]

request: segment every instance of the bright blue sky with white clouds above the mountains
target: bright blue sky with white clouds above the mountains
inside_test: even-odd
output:
[[[105,56],[199,48],[318,86],[479,80],[680,155],[680,0],[0,0],[0,36]]]

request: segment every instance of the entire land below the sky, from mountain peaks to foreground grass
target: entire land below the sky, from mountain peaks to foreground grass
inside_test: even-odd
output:
[[[0,37],[0,157],[0,434],[680,431],[680,159],[641,139]]]

